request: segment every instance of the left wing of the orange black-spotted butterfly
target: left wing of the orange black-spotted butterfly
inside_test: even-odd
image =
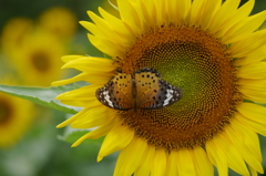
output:
[[[98,100],[115,110],[126,111],[132,108],[132,76],[117,73],[102,89],[96,91]]]

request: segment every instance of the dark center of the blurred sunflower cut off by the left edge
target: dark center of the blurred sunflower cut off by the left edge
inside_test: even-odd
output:
[[[7,123],[12,116],[12,108],[8,101],[0,100],[0,125]]]

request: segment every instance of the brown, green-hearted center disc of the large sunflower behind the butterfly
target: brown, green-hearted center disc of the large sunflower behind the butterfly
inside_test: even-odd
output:
[[[227,46],[200,28],[171,24],[147,31],[127,50],[121,68],[125,73],[154,68],[183,90],[171,106],[121,112],[139,136],[157,147],[204,146],[242,101]]]

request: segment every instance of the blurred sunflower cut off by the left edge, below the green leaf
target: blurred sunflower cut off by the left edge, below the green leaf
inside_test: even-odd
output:
[[[0,148],[18,143],[31,126],[32,112],[33,105],[29,101],[0,92]]]

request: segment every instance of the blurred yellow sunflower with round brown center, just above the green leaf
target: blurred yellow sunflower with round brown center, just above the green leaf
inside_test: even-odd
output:
[[[64,53],[64,46],[50,33],[32,32],[12,52],[11,63],[25,85],[49,86],[62,76],[58,70],[62,61],[58,58]]]

